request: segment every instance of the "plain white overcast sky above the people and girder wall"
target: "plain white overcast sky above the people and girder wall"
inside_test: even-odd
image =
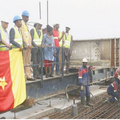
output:
[[[0,20],[10,21],[22,11],[30,13],[29,22],[39,20],[39,2],[43,27],[47,24],[47,0],[1,0]],[[120,37],[120,0],[48,0],[49,25],[60,24],[60,31],[70,26],[74,40]],[[30,27],[31,29],[32,27]]]

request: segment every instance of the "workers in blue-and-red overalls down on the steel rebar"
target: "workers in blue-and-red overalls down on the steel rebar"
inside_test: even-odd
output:
[[[80,86],[80,96],[81,96],[81,104],[83,107],[87,108],[92,106],[90,103],[90,90],[89,90],[89,68],[87,67],[88,60],[83,58],[82,60],[83,66],[78,71],[78,82]],[[120,106],[120,68],[114,73],[113,83],[111,83],[107,88],[107,93],[111,97],[104,102],[118,102],[118,106]],[[85,102],[86,96],[86,102]]]

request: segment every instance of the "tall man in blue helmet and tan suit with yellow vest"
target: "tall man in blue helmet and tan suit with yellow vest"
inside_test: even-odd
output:
[[[28,11],[23,11],[22,12],[22,26],[21,26],[21,33],[22,33],[22,38],[23,38],[23,61],[24,65],[30,65],[31,61],[31,49],[32,49],[32,40],[31,40],[31,35],[27,26],[27,22],[29,20],[29,13]],[[27,80],[34,80],[31,76],[31,68],[30,67],[25,67],[25,74]]]

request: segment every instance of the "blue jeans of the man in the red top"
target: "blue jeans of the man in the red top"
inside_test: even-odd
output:
[[[60,54],[60,48],[56,48],[56,73],[59,72],[59,54]],[[53,74],[54,71],[54,64],[52,64],[52,68],[51,68],[51,73]]]

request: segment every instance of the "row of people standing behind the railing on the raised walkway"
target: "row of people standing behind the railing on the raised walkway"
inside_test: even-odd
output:
[[[69,73],[70,56],[72,51],[72,35],[69,33],[70,27],[66,26],[66,32],[59,31],[59,23],[52,26],[47,25],[42,29],[42,22],[38,20],[34,23],[33,29],[28,28],[29,12],[23,11],[22,17],[15,16],[13,23],[15,26],[10,29],[9,35],[7,27],[9,21],[1,20],[0,26],[0,51],[19,49],[23,54],[24,70],[27,80],[40,79],[40,62],[44,62],[46,77],[53,77],[54,62],[56,65],[56,75],[60,75],[62,69],[62,54],[66,61],[66,73]],[[64,52],[62,53],[62,48]],[[42,50],[41,50],[42,49]],[[41,52],[43,51],[43,52]],[[42,56],[43,55],[43,56]],[[41,61],[41,56],[44,61]],[[31,76],[31,60],[33,62],[33,77]],[[49,71],[48,71],[49,68]]]

